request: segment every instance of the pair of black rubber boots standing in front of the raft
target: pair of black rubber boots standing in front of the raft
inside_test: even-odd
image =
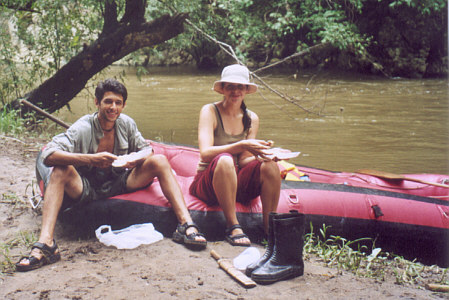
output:
[[[298,211],[270,213],[268,222],[267,250],[257,262],[246,268],[246,275],[260,284],[303,275],[304,214]]]

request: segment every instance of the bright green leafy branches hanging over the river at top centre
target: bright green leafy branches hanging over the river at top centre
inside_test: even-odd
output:
[[[164,5],[168,6],[168,1],[154,2],[162,4],[159,11],[163,11]],[[170,1],[170,7],[189,12],[190,19],[199,28],[233,46],[239,59],[264,61],[324,42],[365,56],[371,38],[361,34],[353,22],[354,16],[361,13],[363,2],[178,0]],[[204,36],[188,29],[175,43],[198,51],[198,48],[211,47],[204,40]],[[189,52],[192,54],[195,50]]]

